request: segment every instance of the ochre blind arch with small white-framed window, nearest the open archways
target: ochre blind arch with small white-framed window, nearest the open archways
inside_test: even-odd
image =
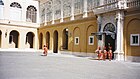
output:
[[[75,27],[73,30],[73,51],[74,52],[80,52],[80,28]]]

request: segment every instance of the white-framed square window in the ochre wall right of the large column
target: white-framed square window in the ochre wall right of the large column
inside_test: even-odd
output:
[[[131,46],[139,46],[140,45],[140,34],[131,34],[130,45]]]

